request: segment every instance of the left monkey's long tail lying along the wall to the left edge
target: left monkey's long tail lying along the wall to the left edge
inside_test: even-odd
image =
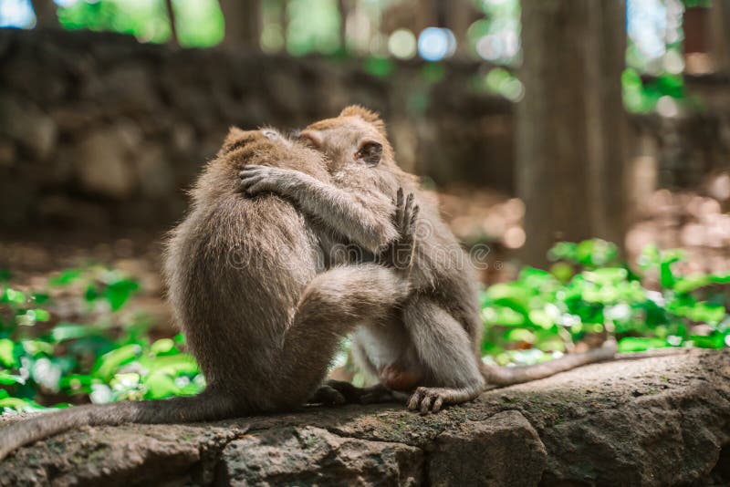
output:
[[[190,397],[89,404],[38,413],[0,429],[0,461],[23,445],[84,425],[222,420],[234,417],[236,412],[239,411],[233,399],[205,390]]]

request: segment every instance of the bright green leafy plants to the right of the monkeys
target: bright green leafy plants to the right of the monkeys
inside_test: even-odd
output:
[[[562,242],[548,257],[550,271],[525,267],[482,293],[483,349],[496,363],[536,361],[603,337],[617,338],[620,351],[730,346],[730,274],[678,275],[682,251],[655,246],[644,249],[637,274],[602,240]]]

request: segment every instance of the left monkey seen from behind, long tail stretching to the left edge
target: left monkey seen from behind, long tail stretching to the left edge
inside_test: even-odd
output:
[[[207,381],[195,397],[89,405],[0,430],[0,459],[26,443],[81,425],[216,420],[292,409],[321,384],[339,340],[363,316],[389,316],[409,285],[378,264],[321,270],[315,225],[270,194],[242,198],[245,164],[301,171],[327,181],[321,154],[274,130],[232,129],[192,192],[192,211],[167,242],[164,274],[188,346]],[[396,221],[412,241],[414,208]],[[392,218],[389,217],[389,221]],[[402,223],[402,224],[401,224]],[[319,400],[338,400],[323,388]]]

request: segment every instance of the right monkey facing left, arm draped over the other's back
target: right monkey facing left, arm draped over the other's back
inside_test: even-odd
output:
[[[287,197],[333,232],[373,253],[396,235],[385,218],[392,212],[389,195],[402,188],[415,195],[420,207],[416,235],[422,236],[413,251],[412,294],[402,305],[400,326],[359,326],[352,339],[352,355],[360,368],[386,389],[412,392],[408,409],[437,412],[444,404],[475,399],[485,389],[546,378],[614,356],[615,342],[608,341],[604,347],[534,366],[486,365],[480,354],[483,325],[473,268],[443,222],[436,199],[397,165],[380,116],[350,106],[337,118],[308,126],[299,139],[325,155],[330,182],[249,165],[239,174],[241,191]],[[346,383],[330,386],[347,393],[349,400],[358,398]]]

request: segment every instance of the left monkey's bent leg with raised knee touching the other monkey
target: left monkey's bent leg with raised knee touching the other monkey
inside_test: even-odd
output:
[[[408,282],[377,264],[338,267],[305,289],[287,330],[280,367],[294,402],[312,397],[339,343],[363,321],[385,320],[405,300]]]

